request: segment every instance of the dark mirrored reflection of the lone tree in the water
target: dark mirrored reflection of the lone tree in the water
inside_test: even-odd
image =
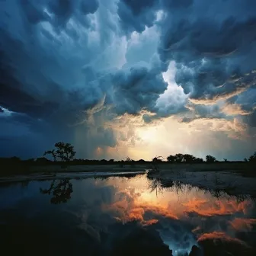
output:
[[[58,182],[58,184],[56,184]],[[40,193],[52,195],[50,199],[51,203],[59,204],[66,203],[73,192],[73,186],[70,179],[53,180],[49,189],[42,189],[40,187]]]

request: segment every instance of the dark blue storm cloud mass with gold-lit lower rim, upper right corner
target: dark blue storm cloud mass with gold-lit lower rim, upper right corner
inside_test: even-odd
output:
[[[216,101],[254,86],[256,17],[251,8],[253,1],[208,6],[185,1],[162,21],[162,60],[177,63],[176,82],[191,99]]]

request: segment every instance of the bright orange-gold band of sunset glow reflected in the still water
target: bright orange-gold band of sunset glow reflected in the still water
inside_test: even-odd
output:
[[[194,193],[178,195],[171,190],[156,195],[149,190],[149,184],[146,184],[143,178],[127,179],[118,184],[110,179],[107,184],[116,187],[117,193],[114,196],[114,203],[105,204],[104,210],[114,213],[116,219],[121,222],[136,220],[143,225],[150,225],[158,222],[160,216],[185,219],[188,217],[187,213],[197,213],[201,217],[246,214],[253,206],[251,200],[240,203],[235,199],[216,200],[203,194],[203,191],[197,192],[197,197]],[[238,227],[238,220],[231,225]],[[200,231],[199,227],[194,229],[194,232],[198,231]]]

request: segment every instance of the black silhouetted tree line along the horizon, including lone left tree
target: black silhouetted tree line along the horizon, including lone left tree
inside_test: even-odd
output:
[[[46,158],[46,156],[48,156],[49,158]],[[57,142],[54,149],[47,150],[46,152],[44,152],[43,157],[40,158],[29,158],[27,160],[21,160],[18,157],[0,158],[0,164],[2,165],[2,171],[0,172],[0,175],[5,176],[10,174],[29,174],[30,172],[33,172],[33,166],[41,165],[65,165],[65,167],[68,165],[116,165],[117,168],[133,167],[134,171],[137,171],[137,169],[139,169],[139,166],[143,167],[143,165],[145,165],[145,168],[152,168],[152,170],[157,171],[159,169],[159,165],[167,166],[168,164],[200,164],[199,166],[202,166],[203,168],[203,165],[201,165],[202,163],[214,164],[217,162],[219,161],[217,161],[213,155],[206,155],[206,159],[203,160],[203,158],[198,158],[194,155],[181,153],[178,153],[176,155],[168,155],[167,158],[157,156],[155,158],[152,158],[152,161],[146,161],[143,159],[135,161],[129,157],[126,157],[123,160],[119,161],[116,161],[113,158],[110,160],[82,159],[75,158],[74,146],[72,146],[70,143]],[[239,162],[242,161],[231,162],[228,161],[226,158],[224,158],[224,161],[222,161],[222,163],[225,165],[231,165],[231,163],[237,164]],[[248,162],[248,165],[251,166],[251,163],[256,162],[256,152],[254,152],[254,155],[245,158],[243,162]],[[139,171],[142,171],[142,167]]]

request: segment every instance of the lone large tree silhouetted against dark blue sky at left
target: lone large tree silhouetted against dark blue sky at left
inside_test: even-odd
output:
[[[54,146],[56,149],[47,150],[43,155],[52,155],[54,161],[59,158],[62,162],[71,161],[75,157],[74,146],[70,143],[57,142]]]

